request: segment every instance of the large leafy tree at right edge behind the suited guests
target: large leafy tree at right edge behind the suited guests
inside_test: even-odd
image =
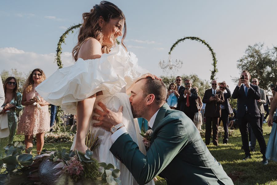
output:
[[[249,45],[245,55],[237,61],[240,71],[247,70],[251,78],[259,79],[259,87],[270,90],[269,85],[277,81],[277,47],[265,48],[263,43]],[[238,79],[233,79],[238,82]]]

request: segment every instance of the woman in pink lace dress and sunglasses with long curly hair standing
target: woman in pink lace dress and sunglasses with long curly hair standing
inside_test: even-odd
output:
[[[37,138],[37,153],[40,154],[44,144],[44,133],[50,130],[49,103],[36,91],[35,87],[45,80],[41,69],[34,69],[28,77],[23,91],[22,105],[25,105],[18,123],[17,134],[25,135],[26,149],[33,147],[33,136]]]

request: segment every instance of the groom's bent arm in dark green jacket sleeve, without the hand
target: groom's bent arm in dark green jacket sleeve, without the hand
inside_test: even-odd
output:
[[[171,117],[159,129],[146,155],[139,151],[138,145],[128,133],[119,136],[110,151],[123,162],[139,184],[146,184],[159,175],[186,146],[186,130],[182,121]]]

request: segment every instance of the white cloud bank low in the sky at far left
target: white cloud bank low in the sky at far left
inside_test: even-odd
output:
[[[62,52],[62,64],[64,67],[74,64],[70,52]],[[19,50],[14,47],[0,48],[0,72],[2,70],[11,70],[17,68],[18,71],[27,73],[34,68],[41,68],[46,76],[50,76],[58,69],[55,63],[55,54],[38,54]]]

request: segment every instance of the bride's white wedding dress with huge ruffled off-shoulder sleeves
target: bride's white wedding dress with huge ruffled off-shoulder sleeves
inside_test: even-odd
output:
[[[108,109],[117,112],[123,105],[123,124],[131,138],[138,144],[139,150],[146,154],[141,141],[142,136],[139,134],[139,124],[137,119],[133,118],[129,96],[126,94],[126,88],[142,74],[143,70],[137,65],[137,58],[129,56],[121,45],[117,45],[109,54],[103,54],[99,59],[79,58],[74,65],[58,69],[35,89],[47,102],[61,105],[62,110],[71,114],[76,114],[78,101],[102,91],[103,95],[96,96],[94,107],[102,110],[97,105],[101,101]],[[98,140],[100,146],[94,150],[94,158],[117,167],[121,172],[119,177],[121,185],[138,184],[125,165],[110,152],[113,144],[110,132],[100,127],[92,127],[93,122],[90,121],[88,129],[92,128],[92,133],[95,130],[95,134],[100,138]],[[74,144],[75,138],[71,149]],[[148,183],[152,184],[153,180]]]

